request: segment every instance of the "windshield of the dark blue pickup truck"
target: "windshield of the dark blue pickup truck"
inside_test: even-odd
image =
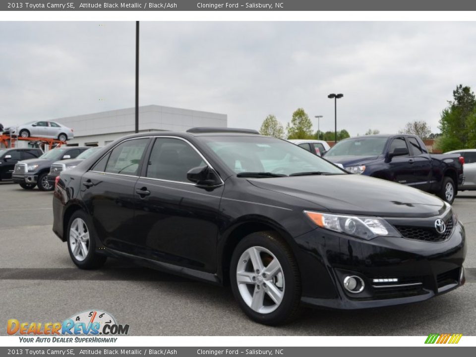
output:
[[[358,137],[346,139],[334,145],[326,154],[329,156],[377,156],[383,153],[386,137]]]

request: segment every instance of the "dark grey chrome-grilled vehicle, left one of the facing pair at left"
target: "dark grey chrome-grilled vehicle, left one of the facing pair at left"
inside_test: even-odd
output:
[[[53,186],[48,182],[51,164],[58,160],[74,159],[87,149],[88,146],[62,146],[47,151],[38,159],[20,161],[15,165],[11,179],[24,189],[33,189],[38,184],[41,191],[51,191]]]

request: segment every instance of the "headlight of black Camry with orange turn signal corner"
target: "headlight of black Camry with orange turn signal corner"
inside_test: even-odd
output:
[[[304,211],[304,214],[318,227],[357,238],[369,240],[377,236],[401,237],[387,221],[378,217],[335,215],[312,211]]]

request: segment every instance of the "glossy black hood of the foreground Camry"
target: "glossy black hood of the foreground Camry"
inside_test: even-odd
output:
[[[297,176],[248,181],[256,187],[308,201],[302,209],[313,209],[315,204],[335,213],[382,217],[430,217],[445,210],[445,203],[436,196],[367,176]]]

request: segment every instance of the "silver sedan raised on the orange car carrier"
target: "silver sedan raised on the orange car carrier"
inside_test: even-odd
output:
[[[20,137],[44,137],[67,141],[74,138],[73,129],[56,121],[30,121],[20,126],[3,129],[4,134],[16,134]]]

